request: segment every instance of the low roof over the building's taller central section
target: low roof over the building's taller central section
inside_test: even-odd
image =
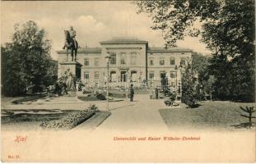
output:
[[[100,44],[132,44],[132,43],[148,43],[145,40],[140,40],[137,38],[125,37],[125,38],[113,38],[110,40],[105,40],[100,42]]]

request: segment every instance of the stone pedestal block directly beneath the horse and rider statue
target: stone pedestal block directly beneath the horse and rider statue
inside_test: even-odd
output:
[[[72,75],[76,75],[78,79],[81,78],[81,64],[79,62],[60,62],[60,68],[58,74],[58,78],[60,78],[62,75],[64,75],[65,71],[69,69],[69,72],[72,73]]]

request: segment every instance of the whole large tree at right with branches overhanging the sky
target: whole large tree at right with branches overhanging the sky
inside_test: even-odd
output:
[[[136,1],[138,12],[151,17],[153,30],[164,34],[165,47],[189,35],[202,35],[212,51],[210,62],[219,98],[254,100],[254,0],[158,0]],[[195,23],[202,28],[196,28]],[[221,62],[221,63],[217,63]],[[225,66],[225,70],[221,67]],[[221,71],[224,71],[222,74]],[[227,76],[225,76],[227,75]],[[225,79],[221,79],[225,76]],[[227,85],[226,85],[227,84]],[[223,94],[222,94],[223,93]]]

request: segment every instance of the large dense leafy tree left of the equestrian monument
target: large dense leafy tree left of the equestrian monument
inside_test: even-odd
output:
[[[2,91],[7,96],[42,91],[49,81],[50,41],[34,21],[14,26],[12,43],[2,48]]]

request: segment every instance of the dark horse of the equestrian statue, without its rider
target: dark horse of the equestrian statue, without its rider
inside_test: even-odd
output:
[[[66,48],[67,57],[68,57],[68,50],[69,49],[71,50],[72,61],[74,61],[73,55],[75,52],[75,62],[76,62],[77,61],[77,48],[78,48],[77,40],[75,42],[74,39],[72,39],[68,30],[64,30],[64,34],[65,34],[65,45],[64,45],[63,49]]]

